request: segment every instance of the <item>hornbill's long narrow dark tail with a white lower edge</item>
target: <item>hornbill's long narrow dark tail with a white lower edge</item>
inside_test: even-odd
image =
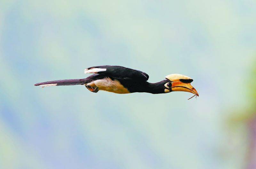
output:
[[[58,80],[58,81],[46,81],[42,83],[36,83],[35,86],[47,87],[47,86],[66,86],[66,85],[84,85],[86,79],[68,79],[68,80]]]

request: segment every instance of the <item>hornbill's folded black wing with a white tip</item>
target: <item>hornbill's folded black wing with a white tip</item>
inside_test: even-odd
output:
[[[141,72],[139,70],[130,69],[122,66],[94,66],[89,67],[84,70],[84,73],[95,73],[95,74],[103,74],[106,76],[114,77],[117,79],[130,78],[133,80],[147,81],[148,74]]]

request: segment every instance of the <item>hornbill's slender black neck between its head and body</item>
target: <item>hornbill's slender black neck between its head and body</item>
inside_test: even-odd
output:
[[[152,94],[165,93],[164,92],[164,89],[165,89],[164,84],[167,82],[168,82],[168,80],[163,80],[163,81],[159,81],[156,83],[147,82],[143,92],[152,93]]]

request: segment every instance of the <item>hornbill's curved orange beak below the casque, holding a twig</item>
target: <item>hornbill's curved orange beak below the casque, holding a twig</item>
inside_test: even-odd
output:
[[[190,93],[193,93],[193,94],[199,96],[196,89],[193,86],[191,86],[190,83],[183,83],[181,81],[174,81],[171,84],[172,84],[172,87],[171,87],[172,91],[190,92]]]

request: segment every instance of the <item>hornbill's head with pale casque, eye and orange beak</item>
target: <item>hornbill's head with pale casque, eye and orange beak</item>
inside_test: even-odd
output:
[[[191,79],[190,77],[182,74],[169,74],[165,76],[165,79],[169,81],[164,84],[165,93],[169,93],[172,91],[183,91],[190,92],[199,96],[196,89],[190,84],[193,81],[193,79]]]

